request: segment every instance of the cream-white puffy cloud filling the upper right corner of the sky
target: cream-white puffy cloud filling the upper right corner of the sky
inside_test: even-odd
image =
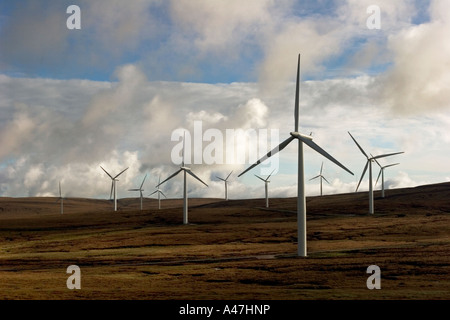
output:
[[[383,98],[402,113],[450,107],[450,45],[445,39],[450,27],[450,6],[431,3],[428,23],[414,25],[389,36],[393,67],[380,77]]]

